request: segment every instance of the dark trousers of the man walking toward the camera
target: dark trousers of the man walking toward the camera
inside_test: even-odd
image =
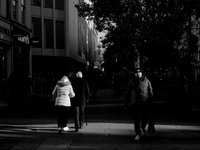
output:
[[[135,133],[140,134],[140,129],[145,129],[149,118],[148,104],[134,104],[131,106],[133,121],[135,126]]]

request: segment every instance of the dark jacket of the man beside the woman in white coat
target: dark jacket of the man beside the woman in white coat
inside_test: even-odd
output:
[[[76,93],[75,97],[72,99],[72,106],[85,106],[90,95],[88,82],[82,78],[75,78],[72,86]]]

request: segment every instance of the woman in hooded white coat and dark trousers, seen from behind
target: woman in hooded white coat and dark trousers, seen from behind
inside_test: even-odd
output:
[[[58,124],[58,133],[61,133],[62,130],[67,131],[68,122],[68,113],[71,106],[70,98],[75,96],[71,82],[67,76],[63,76],[59,80],[52,92],[56,94],[55,106],[57,110],[57,124]]]

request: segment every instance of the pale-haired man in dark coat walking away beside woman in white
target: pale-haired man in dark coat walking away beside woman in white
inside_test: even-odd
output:
[[[89,101],[89,85],[86,80],[83,79],[82,72],[76,73],[76,79],[72,83],[76,96],[72,99],[72,107],[74,108],[74,124],[75,131],[78,132],[79,128],[84,127],[85,119],[85,106]]]

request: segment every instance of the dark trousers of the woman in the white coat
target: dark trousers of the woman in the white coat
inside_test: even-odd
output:
[[[56,106],[56,112],[57,112],[58,127],[61,127],[61,128],[66,127],[68,123],[69,107]]]

